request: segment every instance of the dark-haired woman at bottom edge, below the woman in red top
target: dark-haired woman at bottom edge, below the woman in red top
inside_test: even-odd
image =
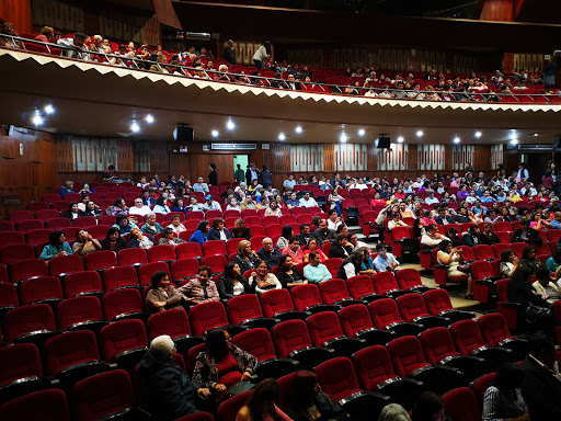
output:
[[[278,394],[278,383],[274,378],[265,378],[255,386],[245,405],[240,408],[236,421],[291,421],[275,405]]]

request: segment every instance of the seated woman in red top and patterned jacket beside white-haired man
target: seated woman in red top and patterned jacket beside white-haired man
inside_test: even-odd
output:
[[[207,387],[216,399],[238,382],[251,378],[257,359],[236,346],[226,330],[211,329],[205,342],[206,350],[197,355],[193,371],[198,387]]]

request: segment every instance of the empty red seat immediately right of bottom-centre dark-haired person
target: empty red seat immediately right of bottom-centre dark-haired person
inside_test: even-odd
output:
[[[321,389],[339,402],[353,420],[377,419],[390,398],[360,389],[353,363],[344,356],[327,361],[316,367]]]

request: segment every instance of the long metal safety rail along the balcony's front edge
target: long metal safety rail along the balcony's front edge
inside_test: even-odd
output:
[[[160,73],[165,73],[163,70],[168,72],[170,76],[180,76],[186,78],[194,78],[201,80],[207,80],[209,82],[220,82],[220,83],[234,83],[234,84],[243,84],[248,87],[254,88],[266,88],[266,89],[282,89],[282,90],[297,90],[293,89],[288,83],[293,81],[288,81],[287,79],[276,79],[276,78],[267,78],[264,76],[257,75],[242,75],[237,72],[222,72],[218,70],[209,70],[190,67],[184,65],[175,65],[175,64],[160,64],[158,61],[147,60],[138,57],[127,57],[115,54],[107,53],[95,53],[93,50],[83,50],[76,47],[70,47],[61,44],[53,44],[53,43],[44,43],[38,39],[30,39],[21,36],[13,35],[0,35],[3,38],[9,38],[12,41],[13,47],[8,47],[10,49],[18,49],[16,42],[23,42],[26,52],[32,52],[36,54],[47,54],[50,56],[69,58],[62,55],[64,50],[72,50],[76,52],[80,57],[90,56],[98,57],[98,59],[91,59],[88,61],[98,62],[105,66],[118,67],[122,68],[121,64],[116,65],[115,62],[123,62],[126,68],[131,70],[139,71],[151,71],[150,68],[152,66],[157,66],[160,69]],[[1,48],[1,47],[0,47]],[[5,47],[4,47],[5,48]],[[81,59],[81,58],[78,58]],[[119,61],[121,60],[121,61]],[[113,62],[112,62],[113,61]],[[175,69],[173,72],[172,70]],[[195,76],[195,72],[202,71],[203,77]],[[216,77],[211,78],[208,75],[213,75]],[[206,77],[205,77],[206,76]],[[249,83],[238,81],[237,78],[245,77],[249,80]],[[224,80],[224,79],[227,80]],[[322,82],[305,82],[301,80],[295,80],[295,84],[301,87],[299,91],[308,92],[308,93],[320,93],[320,94],[331,94],[331,95],[344,95],[344,96],[357,96],[357,98],[371,98],[371,99],[389,99],[389,100],[400,100],[400,101],[439,101],[439,102],[486,102],[486,103],[513,103],[513,104],[561,104],[561,91],[556,94],[547,94],[547,93],[504,93],[504,92],[495,92],[493,90],[399,90],[391,86],[382,86],[376,88],[365,88],[365,87],[353,87],[353,86],[343,86],[343,84],[330,84]],[[347,90],[353,90],[354,92],[346,92]],[[423,99],[419,100],[417,98],[413,98],[413,95],[423,94]],[[432,98],[426,98],[432,96]]]

